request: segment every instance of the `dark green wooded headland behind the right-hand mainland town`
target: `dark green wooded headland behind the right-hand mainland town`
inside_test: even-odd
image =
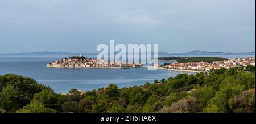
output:
[[[213,61],[224,61],[228,60],[226,58],[221,58],[221,57],[160,57],[158,58],[159,60],[176,60],[179,63],[183,62],[209,62],[212,63]]]

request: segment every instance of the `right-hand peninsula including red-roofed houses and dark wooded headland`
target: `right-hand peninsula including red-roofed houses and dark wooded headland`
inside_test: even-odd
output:
[[[211,69],[218,70],[224,67],[225,69],[230,69],[234,67],[247,67],[255,66],[255,57],[249,58],[235,58],[235,59],[224,59],[216,57],[165,57],[164,60],[174,60],[174,63],[164,63],[164,65],[159,65],[159,69],[167,70],[180,70],[193,72],[206,71],[209,72]]]

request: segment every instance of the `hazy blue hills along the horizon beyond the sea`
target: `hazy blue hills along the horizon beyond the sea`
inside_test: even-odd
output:
[[[98,53],[96,52],[96,53],[81,53],[81,54],[98,54]],[[118,52],[115,52],[115,53],[118,53]],[[14,53],[14,54],[80,54],[80,53],[42,51],[42,52],[23,52],[23,53]],[[186,53],[170,53],[170,52],[159,51],[158,54],[160,55],[186,55],[186,54],[190,54],[190,55],[211,55],[211,54],[255,55],[255,51],[253,52],[208,52],[208,51],[193,50],[191,52],[186,52]]]

